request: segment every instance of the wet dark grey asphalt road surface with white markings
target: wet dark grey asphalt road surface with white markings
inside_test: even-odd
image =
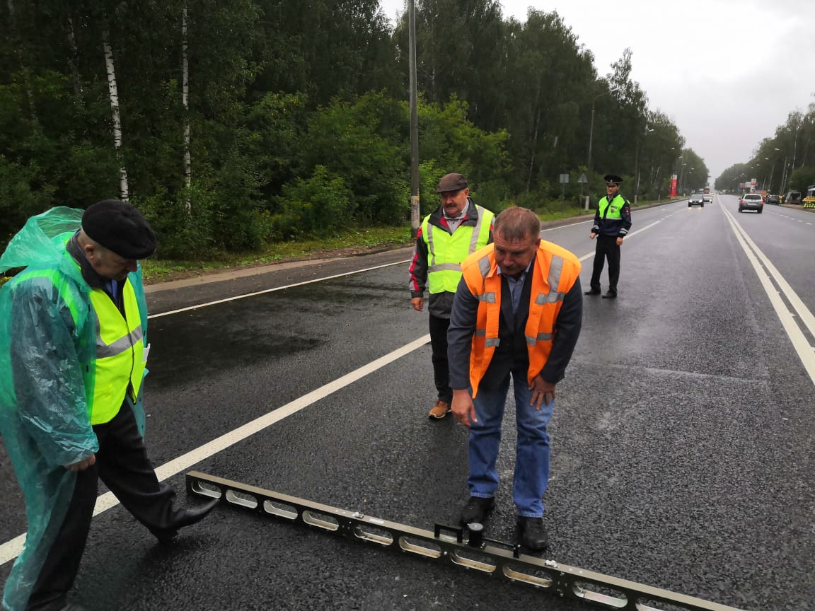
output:
[[[635,210],[633,223],[619,298],[585,298],[558,385],[543,557],[739,609],[812,609],[815,214],[739,214],[735,197],[715,196]],[[584,260],[584,288],[590,226],[542,234]],[[467,434],[427,419],[430,345],[409,255],[151,288],[148,451],[179,500],[195,502],[183,492],[195,468],[421,529],[456,520]],[[512,412],[486,525],[507,542]],[[0,461],[4,580],[26,525]],[[75,587],[90,611],[587,608],[224,504],[161,546],[105,492]]]

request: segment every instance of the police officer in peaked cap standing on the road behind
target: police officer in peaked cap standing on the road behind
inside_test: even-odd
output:
[[[606,197],[597,203],[594,225],[589,234],[592,240],[597,237],[597,248],[594,252],[592,281],[585,294],[600,294],[600,275],[608,257],[609,290],[603,295],[603,299],[615,299],[619,280],[619,247],[631,229],[631,204],[619,195],[619,183],[623,182],[622,178],[616,174],[606,174],[603,179],[606,181]]]

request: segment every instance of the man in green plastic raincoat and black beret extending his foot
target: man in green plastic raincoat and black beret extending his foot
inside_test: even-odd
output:
[[[29,218],[0,257],[0,272],[24,267],[0,289],[0,433],[29,521],[7,611],[81,609],[67,595],[99,479],[162,543],[218,502],[176,508],[144,448],[139,259],[155,250],[137,209],[104,200]]]

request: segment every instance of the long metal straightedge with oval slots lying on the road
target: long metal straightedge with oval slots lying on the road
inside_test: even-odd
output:
[[[187,493],[221,499],[222,504],[233,508],[399,549],[423,559],[474,569],[605,609],[740,611],[725,604],[527,556],[518,545],[485,538],[480,524],[469,528],[437,524],[431,532],[198,471],[187,473]]]

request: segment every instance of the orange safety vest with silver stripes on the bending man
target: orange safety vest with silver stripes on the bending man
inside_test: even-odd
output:
[[[475,397],[478,383],[487,372],[492,355],[500,343],[501,277],[498,275],[494,245],[490,244],[467,257],[461,263],[461,271],[469,292],[478,298],[469,358],[469,383]],[[574,254],[557,244],[541,240],[532,268],[529,316],[524,328],[530,384],[543,370],[552,352],[557,313],[579,275],[580,262]]]

